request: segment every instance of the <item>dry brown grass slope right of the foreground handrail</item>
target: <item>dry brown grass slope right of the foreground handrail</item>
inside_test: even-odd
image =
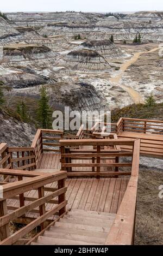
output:
[[[163,172],[140,168],[135,245],[163,245],[163,199],[158,196],[162,184]]]

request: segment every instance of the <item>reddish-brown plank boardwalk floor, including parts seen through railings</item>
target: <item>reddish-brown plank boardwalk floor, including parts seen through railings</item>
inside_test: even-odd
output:
[[[110,160],[112,161],[112,160]],[[37,165],[37,170],[43,169],[43,172],[51,172],[60,170],[60,153],[42,153],[40,161]],[[91,168],[85,167],[87,171]],[[111,171],[111,167],[110,171]],[[77,168],[76,168],[77,169]],[[83,171],[84,168],[78,168],[78,171]],[[105,168],[106,169],[106,168]],[[129,177],[123,178],[67,178],[66,179],[66,200],[68,201],[67,210],[80,209],[100,212],[116,213],[126,191]],[[46,187],[57,188],[57,182],[48,184]],[[50,192],[45,192],[45,195]],[[24,193],[24,197],[38,198],[37,190],[31,190]],[[29,204],[26,201],[25,204]],[[15,207],[20,207],[19,200],[7,200],[9,212],[15,210]],[[46,204],[46,210],[51,210],[55,205]],[[37,213],[38,212],[38,213]],[[39,207],[35,212],[28,212],[26,217],[37,218],[39,216]],[[54,218],[53,218],[54,219]]]

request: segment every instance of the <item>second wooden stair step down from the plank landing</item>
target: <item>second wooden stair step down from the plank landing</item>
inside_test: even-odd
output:
[[[107,221],[103,219],[91,218],[91,217],[80,217],[80,216],[65,216],[60,219],[60,222],[91,225],[95,227],[111,227],[114,219],[108,219]]]

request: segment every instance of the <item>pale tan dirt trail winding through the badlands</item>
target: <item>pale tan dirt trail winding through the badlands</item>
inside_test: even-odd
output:
[[[118,74],[111,78],[110,81],[115,83],[116,85],[120,82],[123,73],[127,70],[127,68],[129,66],[131,66],[131,64],[135,63],[137,61],[137,59],[139,59],[140,55],[142,55],[143,53],[150,53],[150,52],[154,52],[156,50],[159,50],[160,47],[157,48],[153,48],[150,51],[142,51],[142,52],[136,52],[134,54],[134,56],[132,58],[130,58],[128,61],[126,61],[125,63],[123,63],[121,65],[121,68],[118,72]],[[130,97],[133,99],[134,103],[143,103],[143,98],[140,96],[139,92],[135,91],[133,88],[128,87],[128,86],[124,86],[124,85],[120,85],[121,88],[123,88],[126,92],[129,93]]]

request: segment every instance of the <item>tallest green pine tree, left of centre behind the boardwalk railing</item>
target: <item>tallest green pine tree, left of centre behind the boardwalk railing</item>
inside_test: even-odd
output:
[[[40,89],[39,107],[37,110],[37,120],[40,128],[47,129],[52,127],[52,109],[49,106],[49,97],[47,96],[46,88]]]

